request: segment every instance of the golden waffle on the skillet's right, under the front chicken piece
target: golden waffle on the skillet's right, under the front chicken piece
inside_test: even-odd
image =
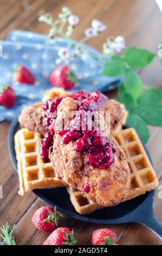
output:
[[[145,194],[158,186],[158,180],[153,167],[148,160],[145,150],[133,128],[114,132],[113,136],[124,150],[130,168],[130,190],[126,200]],[[71,202],[79,214],[89,214],[103,208],[89,199],[83,197],[81,192],[74,192],[67,188]]]

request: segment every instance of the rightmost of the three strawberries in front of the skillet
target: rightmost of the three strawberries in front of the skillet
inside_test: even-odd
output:
[[[117,236],[108,228],[97,229],[92,234],[92,245],[116,245]]]

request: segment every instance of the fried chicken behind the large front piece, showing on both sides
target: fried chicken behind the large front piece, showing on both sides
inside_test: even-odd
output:
[[[108,100],[101,111],[110,111],[110,128],[115,130],[122,121],[123,107],[115,100]],[[45,133],[45,127],[42,124],[43,102],[36,102],[22,110],[18,121],[21,128],[31,131]]]

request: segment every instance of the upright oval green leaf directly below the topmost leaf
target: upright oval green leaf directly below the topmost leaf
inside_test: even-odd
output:
[[[128,94],[130,94],[134,100],[138,98],[142,90],[142,82],[138,74],[132,69],[126,69],[124,71],[124,87]]]

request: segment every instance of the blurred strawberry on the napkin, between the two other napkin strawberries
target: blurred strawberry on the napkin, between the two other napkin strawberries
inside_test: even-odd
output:
[[[25,66],[18,67],[18,69],[14,72],[14,80],[19,83],[35,83],[33,74]]]

